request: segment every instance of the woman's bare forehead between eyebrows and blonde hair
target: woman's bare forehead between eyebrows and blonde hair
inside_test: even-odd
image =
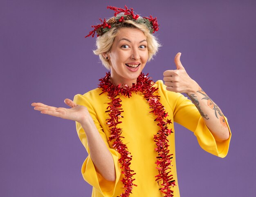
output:
[[[122,27],[119,29],[119,33],[115,38],[116,42],[119,42],[121,39],[128,39],[130,41],[138,41],[146,40],[146,36],[143,31],[137,28],[129,28],[129,27]]]

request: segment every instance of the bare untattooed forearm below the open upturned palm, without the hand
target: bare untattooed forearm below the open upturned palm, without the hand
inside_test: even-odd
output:
[[[92,118],[88,118],[81,124],[81,126],[87,136],[90,157],[97,172],[106,180],[115,181],[116,173],[113,157],[99,134]]]

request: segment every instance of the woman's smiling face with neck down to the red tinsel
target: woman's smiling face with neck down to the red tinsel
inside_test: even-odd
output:
[[[111,82],[132,86],[148,60],[146,36],[136,28],[121,28],[110,52]]]

